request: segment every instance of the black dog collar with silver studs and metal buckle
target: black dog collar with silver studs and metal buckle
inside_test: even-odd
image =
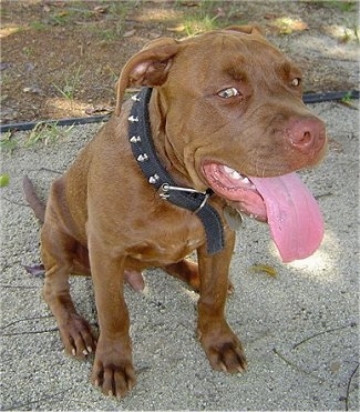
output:
[[[224,249],[223,223],[217,211],[207,203],[213,191],[209,189],[199,192],[176,185],[156,155],[147,109],[152,90],[143,88],[132,98],[134,103],[127,120],[133,154],[146,180],[156,188],[162,199],[192,211],[200,219],[206,233],[207,252],[209,254],[219,252]]]

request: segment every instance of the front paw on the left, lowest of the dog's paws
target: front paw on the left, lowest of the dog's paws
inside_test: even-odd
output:
[[[124,398],[136,383],[131,351],[111,343],[104,350],[97,345],[91,381],[105,395]]]

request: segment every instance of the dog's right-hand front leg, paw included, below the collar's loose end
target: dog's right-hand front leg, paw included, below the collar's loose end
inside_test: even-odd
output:
[[[225,320],[225,302],[228,294],[228,270],[235,234],[225,232],[225,249],[208,255],[206,245],[198,249],[200,297],[198,301],[198,338],[215,370],[243,372],[246,360],[240,341]]]

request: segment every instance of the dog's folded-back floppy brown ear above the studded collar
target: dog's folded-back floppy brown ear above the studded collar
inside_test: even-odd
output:
[[[167,78],[179,43],[171,38],[150,42],[124,66],[116,84],[115,115],[120,114],[125,89],[130,86],[161,86]]]

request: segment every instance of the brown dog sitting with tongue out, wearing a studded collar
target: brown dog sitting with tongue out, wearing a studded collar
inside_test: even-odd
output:
[[[142,91],[121,108],[126,87]],[[198,336],[212,366],[246,369],[224,307],[237,212],[267,221],[284,261],[322,237],[313,198],[292,173],[316,164],[325,125],[301,101],[301,74],[257,29],[151,42],[124,67],[114,115],[51,188],[42,229],[44,298],[65,350],[95,351],[92,382],[135,384],[124,280],[163,268],[199,291]],[[197,251],[198,267],[185,257]],[[97,344],[69,291],[90,273]]]

